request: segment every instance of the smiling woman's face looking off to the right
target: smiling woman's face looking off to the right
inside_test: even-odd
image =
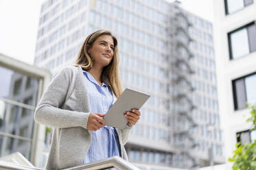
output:
[[[114,57],[113,38],[109,35],[99,36],[88,49],[88,53],[94,60],[94,66],[107,66]]]

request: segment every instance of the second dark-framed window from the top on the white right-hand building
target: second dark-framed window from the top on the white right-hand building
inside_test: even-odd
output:
[[[249,23],[228,33],[230,59],[240,58],[256,50],[256,25]]]

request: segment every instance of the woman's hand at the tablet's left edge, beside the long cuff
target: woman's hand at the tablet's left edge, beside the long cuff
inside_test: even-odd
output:
[[[105,120],[103,119],[104,116],[105,114],[91,112],[87,122],[87,130],[96,131],[106,125]]]

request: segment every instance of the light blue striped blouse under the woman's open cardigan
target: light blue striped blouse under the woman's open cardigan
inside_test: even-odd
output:
[[[114,97],[107,83],[100,86],[87,71],[83,72],[89,93],[91,112],[105,114],[111,107]],[[83,164],[103,160],[112,156],[119,156],[114,127],[104,126],[100,130],[92,131],[92,145],[83,160]],[[116,133],[117,135],[117,133]]]

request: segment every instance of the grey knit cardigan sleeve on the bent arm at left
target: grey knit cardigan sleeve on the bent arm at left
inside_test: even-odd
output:
[[[72,70],[68,67],[54,76],[36,106],[34,120],[50,127],[87,128],[89,112],[61,109],[70,88]]]

